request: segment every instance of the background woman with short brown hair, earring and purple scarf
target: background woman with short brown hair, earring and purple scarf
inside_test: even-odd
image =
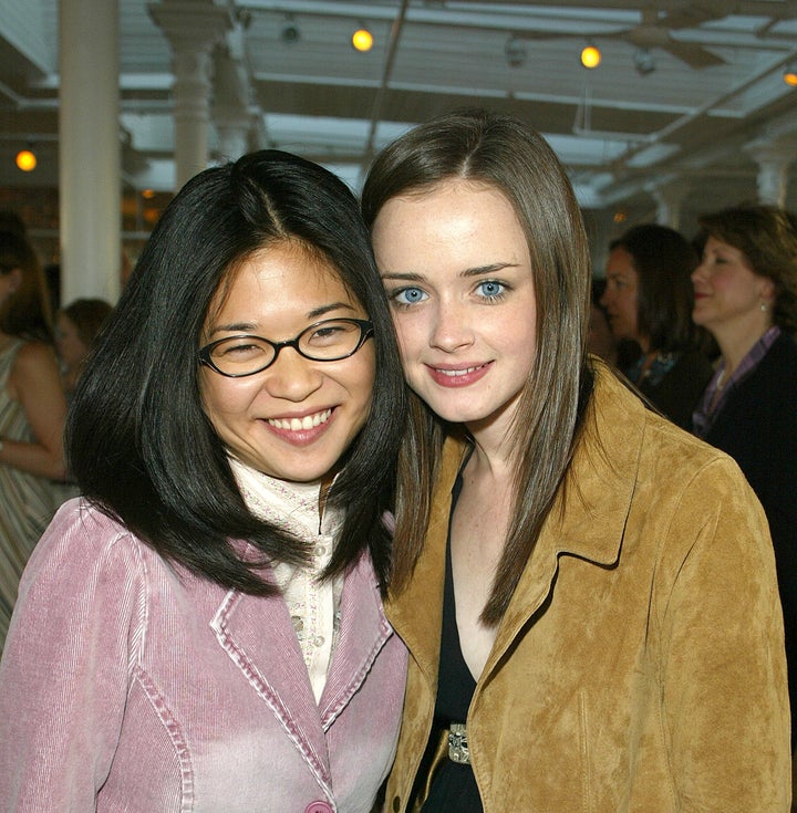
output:
[[[694,431],[736,459],[764,505],[778,569],[797,743],[797,219],[770,206],[700,218],[694,321],[720,346]]]

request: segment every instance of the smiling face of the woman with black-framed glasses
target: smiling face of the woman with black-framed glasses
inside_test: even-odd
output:
[[[300,244],[252,254],[211,308],[204,342],[240,334],[292,340],[327,319],[368,319],[334,267]],[[267,369],[229,378],[200,369],[205,413],[239,460],[271,477],[312,482],[333,471],[371,408],[375,354],[315,362],[283,347]]]

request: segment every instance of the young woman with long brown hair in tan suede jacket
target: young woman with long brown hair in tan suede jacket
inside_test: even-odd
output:
[[[362,206],[415,396],[387,809],[786,811],[766,518],[727,456],[588,364],[587,240],[549,146],[449,114],[377,157]]]

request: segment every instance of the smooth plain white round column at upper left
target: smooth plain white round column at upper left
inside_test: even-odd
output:
[[[122,259],[116,0],[60,0],[61,302],[115,302]]]

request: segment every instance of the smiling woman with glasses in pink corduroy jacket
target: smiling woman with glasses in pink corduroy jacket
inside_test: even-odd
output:
[[[77,385],[0,664],[22,811],[368,813],[403,382],[348,188],[266,150],[164,212]]]

